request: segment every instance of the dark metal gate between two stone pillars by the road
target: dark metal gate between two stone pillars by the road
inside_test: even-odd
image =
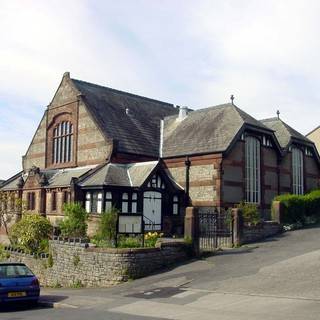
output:
[[[199,212],[197,216],[196,238],[199,251],[212,252],[218,248],[233,246],[233,223],[227,212]]]

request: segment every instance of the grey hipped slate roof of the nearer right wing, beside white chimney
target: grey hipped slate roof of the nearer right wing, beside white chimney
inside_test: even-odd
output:
[[[224,152],[244,126],[272,130],[252,116],[228,103],[164,119],[163,157]]]

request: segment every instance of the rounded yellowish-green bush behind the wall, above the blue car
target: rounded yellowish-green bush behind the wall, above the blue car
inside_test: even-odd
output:
[[[11,243],[27,252],[48,252],[52,225],[38,214],[24,214],[9,231]]]

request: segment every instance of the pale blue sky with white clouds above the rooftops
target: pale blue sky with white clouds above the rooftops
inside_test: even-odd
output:
[[[320,125],[320,1],[0,0],[0,179],[64,72],[193,109]]]

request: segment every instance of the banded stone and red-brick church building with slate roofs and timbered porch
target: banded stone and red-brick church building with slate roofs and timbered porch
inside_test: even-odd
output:
[[[54,225],[64,203],[79,201],[91,234],[112,206],[142,214],[147,230],[183,234],[186,206],[247,201],[269,219],[276,195],[318,188],[319,170],[314,143],[279,117],[258,121],[233,100],[193,111],[65,73],[0,192]],[[7,210],[19,218],[14,201]]]

